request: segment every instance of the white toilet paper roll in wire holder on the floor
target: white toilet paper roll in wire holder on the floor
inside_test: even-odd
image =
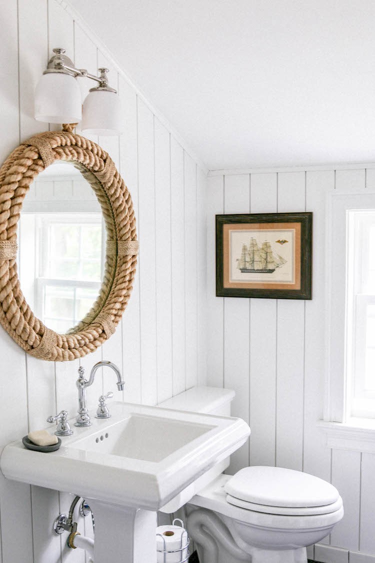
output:
[[[160,534],[160,535],[158,535]],[[179,563],[188,556],[188,534],[181,526],[156,528],[157,563]],[[163,551],[167,553],[162,553]]]

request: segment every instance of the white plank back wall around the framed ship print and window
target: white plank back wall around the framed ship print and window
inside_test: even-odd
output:
[[[348,561],[348,551],[350,561],[370,560],[359,551],[375,561],[375,455],[331,453],[316,424],[323,418],[326,195],[334,189],[373,189],[374,172],[373,164],[368,169],[211,172],[207,189],[207,378],[209,385],[236,391],[232,413],[251,426],[250,446],[232,455],[230,472],[247,464],[278,465],[337,486],[345,516],[323,543],[345,551],[328,550],[332,555],[324,561],[329,562],[339,561],[334,557]],[[292,211],[313,212],[313,299],[215,297],[215,214]]]

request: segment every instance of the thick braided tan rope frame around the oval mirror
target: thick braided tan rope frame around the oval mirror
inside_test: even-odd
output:
[[[66,361],[96,350],[115,332],[128,303],[138,242],[132,199],[109,155],[93,141],[64,131],[40,133],[18,146],[0,168],[0,323],[26,352]],[[73,162],[91,184],[107,230],[105,274],[91,310],[67,334],[47,328],[31,311],[20,288],[16,231],[34,178],[55,160]]]

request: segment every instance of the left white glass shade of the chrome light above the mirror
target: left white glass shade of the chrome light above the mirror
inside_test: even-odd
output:
[[[82,97],[70,74],[47,73],[35,89],[35,119],[47,123],[78,123],[82,119]]]

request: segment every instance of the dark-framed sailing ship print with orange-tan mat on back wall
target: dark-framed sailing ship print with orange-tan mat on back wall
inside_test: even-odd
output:
[[[311,299],[312,213],[216,215],[216,295]]]

